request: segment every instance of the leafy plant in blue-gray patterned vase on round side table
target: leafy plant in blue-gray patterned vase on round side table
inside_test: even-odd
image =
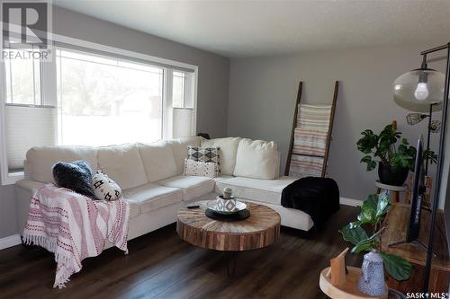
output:
[[[382,227],[383,219],[388,213],[389,198],[386,195],[372,194],[367,197],[357,221],[351,222],[341,228],[339,233],[345,241],[355,246],[353,253],[365,253],[362,274],[358,287],[361,292],[368,295],[383,295],[385,290],[384,275],[376,270],[383,271],[383,266],[390,276],[402,281],[410,278],[412,265],[398,255],[390,254],[381,250],[381,236],[385,227]],[[370,231],[366,231],[369,229]],[[379,268],[374,268],[376,265]],[[372,267],[372,268],[371,268]],[[385,294],[385,293],[384,293]]]

